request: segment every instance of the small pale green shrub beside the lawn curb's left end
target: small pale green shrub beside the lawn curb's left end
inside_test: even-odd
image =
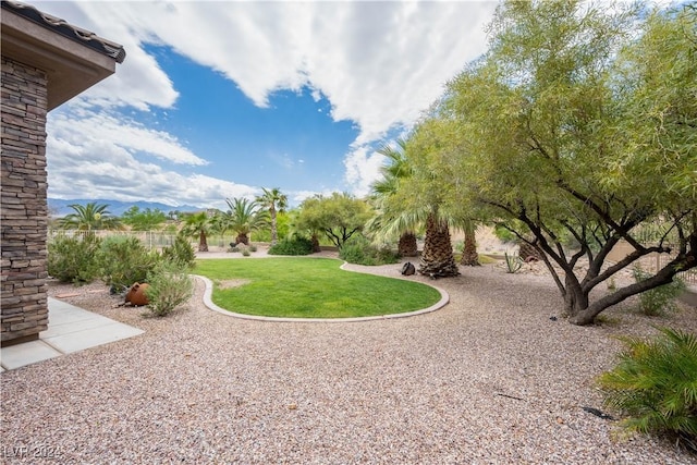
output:
[[[149,286],[145,290],[145,295],[152,315],[164,317],[191,298],[194,283],[188,270],[186,266],[163,260],[148,272]]]

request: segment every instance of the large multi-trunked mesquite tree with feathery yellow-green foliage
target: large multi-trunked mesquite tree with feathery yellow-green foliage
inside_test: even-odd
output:
[[[697,267],[695,11],[503,3],[488,53],[439,102],[457,127],[443,163],[452,201],[542,250],[577,325]],[[621,241],[633,252],[608,262]],[[669,256],[656,276],[591,302],[651,253]]]

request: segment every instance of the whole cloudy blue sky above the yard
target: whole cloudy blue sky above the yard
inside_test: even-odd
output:
[[[32,2],[119,42],[114,75],[49,114],[49,197],[223,207],[366,195],[496,2]]]

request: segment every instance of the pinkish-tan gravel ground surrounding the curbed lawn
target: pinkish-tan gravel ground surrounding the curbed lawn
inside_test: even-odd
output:
[[[561,297],[545,274],[461,271],[411,278],[450,294],[438,311],[353,323],[228,317],[201,304],[200,281],[188,305],[144,318],[101,284],[52,283],[50,295],[78,294],[63,299],[145,333],[1,374],[4,463],[697,462],[620,440],[582,408],[604,409],[592,381],[613,365],[613,335],[696,331],[694,309],[649,319],[629,302],[579,328],[550,320]]]

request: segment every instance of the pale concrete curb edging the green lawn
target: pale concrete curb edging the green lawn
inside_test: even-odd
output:
[[[344,269],[344,266],[347,265],[345,261],[344,264],[340,267],[342,270],[347,271],[347,272],[360,272],[360,271],[354,271],[354,270],[346,270]],[[369,274],[369,273],[363,273],[363,274]],[[200,279],[204,284],[206,284],[206,289],[204,290],[204,305],[206,305],[206,307],[208,307],[209,309],[213,310],[213,311],[218,311],[219,314],[223,314],[227,315],[229,317],[234,317],[234,318],[241,318],[241,319],[245,319],[245,320],[257,320],[257,321],[272,321],[272,322],[311,322],[311,323],[345,323],[345,322],[358,322],[358,321],[375,321],[375,320],[388,320],[388,319],[394,319],[394,318],[408,318],[408,317],[415,317],[417,315],[424,315],[424,314],[430,314],[431,311],[436,311],[442,307],[444,307],[445,305],[448,305],[448,303],[450,302],[450,295],[442,289],[435,286],[432,284],[427,284],[427,283],[421,283],[425,285],[428,285],[430,287],[433,287],[436,291],[438,291],[440,293],[440,301],[438,301],[436,304],[431,305],[430,307],[427,308],[423,308],[420,310],[414,310],[414,311],[406,311],[406,313],[402,313],[402,314],[388,314],[388,315],[376,315],[372,317],[351,317],[351,318],[289,318],[289,317],[264,317],[264,316],[259,316],[259,315],[247,315],[247,314],[237,314],[235,311],[231,311],[231,310],[225,310],[224,308],[221,308],[219,306],[217,306],[216,304],[213,304],[212,301],[212,294],[213,294],[213,283],[210,279],[200,276],[200,274],[192,274],[195,278]],[[392,278],[392,277],[388,277],[391,279],[402,279],[402,278]],[[408,281],[408,280],[405,280]]]

